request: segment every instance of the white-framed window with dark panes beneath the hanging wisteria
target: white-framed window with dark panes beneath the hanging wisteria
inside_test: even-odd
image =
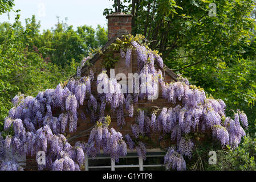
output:
[[[146,160],[139,158],[137,152],[128,152],[118,163],[105,154],[99,154],[95,159],[86,156],[84,166],[86,171],[164,171],[164,152],[149,151]]]

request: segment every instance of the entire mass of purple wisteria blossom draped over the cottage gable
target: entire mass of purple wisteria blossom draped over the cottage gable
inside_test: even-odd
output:
[[[165,83],[162,72],[155,69],[156,62],[161,68],[164,67],[161,57],[135,41],[130,44],[131,47],[126,52],[121,49],[121,56],[125,58],[128,66],[134,49],[137,53],[137,73],[147,77],[146,82],[139,81],[139,85],[133,83],[132,94],[122,93],[117,80],[108,78],[106,74],[97,77],[96,85],[107,91],[92,93],[94,73],[90,71],[89,76],[80,77],[83,65],[90,59],[87,57],[78,67],[77,77],[71,78],[67,83],[39,92],[36,97],[25,97],[23,94],[15,96],[14,107],[4,123],[4,130],[13,130],[14,135],[5,138],[0,135],[0,169],[21,169],[17,160],[8,154],[36,156],[39,151],[44,151],[46,164],[38,165],[39,169],[79,170],[85,155],[93,158],[100,150],[118,162],[120,156],[127,155],[127,144],[145,159],[146,144],[140,139],[153,132],[160,133],[161,137],[169,135],[170,140],[177,142],[177,150],[169,148],[165,155],[168,169],[186,169],[184,157],[191,158],[194,147],[193,138],[186,136],[194,132],[204,133],[210,130],[213,138],[219,140],[223,146],[238,146],[241,138],[245,136],[242,126],[248,126],[245,113],[238,111],[234,119],[226,117],[224,101],[206,97],[203,89],[190,85],[186,78],[180,77],[176,82]],[[119,126],[125,125],[124,109],[128,111],[129,117],[134,117],[133,105],[139,98],[150,100],[156,96],[158,82],[161,85],[162,97],[176,105],[175,107],[164,107],[153,113],[139,110],[136,123],[131,125],[134,141],[129,135],[123,138],[121,133],[108,128],[110,118],[104,117],[106,105],[110,105],[111,110],[116,112]],[[143,84],[147,85],[145,92],[142,92],[145,86]],[[136,86],[139,86],[139,93],[134,92]],[[91,130],[87,143],[76,142],[75,146],[71,146],[64,135],[76,131],[78,109],[82,105],[87,106],[86,112],[91,115],[95,127]],[[60,112],[56,113],[55,110]],[[80,116],[86,118],[83,112]]]

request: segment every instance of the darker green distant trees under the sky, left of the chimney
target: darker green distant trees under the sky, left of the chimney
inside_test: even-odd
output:
[[[26,30],[30,30],[23,37],[23,41],[29,50],[38,48],[44,59],[51,60],[56,65],[64,67],[71,59],[79,63],[84,56],[88,56],[91,49],[102,47],[107,42],[107,31],[104,27],[96,30],[91,26],[80,26],[75,31],[73,26],[58,22],[55,28],[39,33],[40,22],[36,22],[35,16],[26,19]]]

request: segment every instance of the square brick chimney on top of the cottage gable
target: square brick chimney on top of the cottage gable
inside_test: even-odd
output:
[[[108,19],[108,40],[113,38],[117,31],[127,30],[129,34],[132,33],[132,15],[124,13],[113,13],[107,15]]]

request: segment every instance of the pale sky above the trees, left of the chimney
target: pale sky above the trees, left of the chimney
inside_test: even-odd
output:
[[[105,8],[112,8],[112,1],[109,0],[15,0],[14,10],[21,10],[21,22],[25,26],[25,19],[35,15],[40,20],[40,30],[50,29],[60,21],[73,25],[74,28],[86,24],[97,27],[97,24],[107,27],[107,19],[103,15]],[[15,14],[10,13],[10,20],[7,14],[0,15],[0,22],[14,22]]]

